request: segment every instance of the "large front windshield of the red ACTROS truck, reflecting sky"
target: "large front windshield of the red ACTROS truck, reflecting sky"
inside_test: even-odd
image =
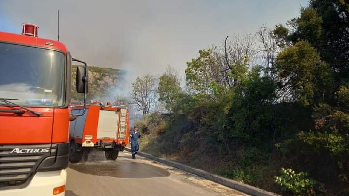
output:
[[[65,55],[53,50],[0,43],[0,98],[32,106],[62,106]]]

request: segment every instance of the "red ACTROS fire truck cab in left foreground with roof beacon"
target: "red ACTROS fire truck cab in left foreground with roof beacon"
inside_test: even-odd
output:
[[[69,161],[72,61],[76,90],[88,91],[87,64],[38,26],[0,32],[0,195],[64,195]]]

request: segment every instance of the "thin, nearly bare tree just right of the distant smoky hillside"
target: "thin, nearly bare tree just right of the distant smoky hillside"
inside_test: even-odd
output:
[[[132,83],[132,88],[131,104],[136,105],[138,111],[142,111],[143,116],[148,114],[151,107],[154,106],[156,94],[155,77],[152,75],[137,77]]]

